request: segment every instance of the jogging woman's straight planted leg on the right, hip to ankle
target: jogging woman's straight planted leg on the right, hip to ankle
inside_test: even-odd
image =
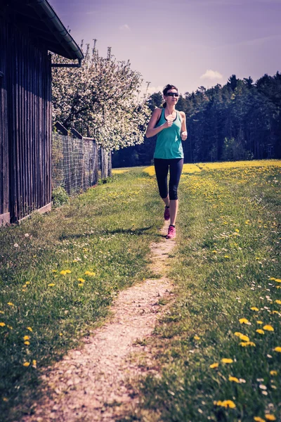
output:
[[[169,180],[169,198],[171,225],[176,224],[176,215],[178,214],[178,184],[183,170],[183,158],[170,160],[170,180]]]

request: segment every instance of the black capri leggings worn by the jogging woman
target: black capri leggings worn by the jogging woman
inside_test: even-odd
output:
[[[161,198],[168,196],[167,177],[170,168],[169,198],[170,200],[178,199],[178,184],[183,170],[183,158],[173,158],[171,160],[155,158],[154,166]]]

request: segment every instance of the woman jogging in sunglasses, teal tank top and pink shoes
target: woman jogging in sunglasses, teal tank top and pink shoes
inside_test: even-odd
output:
[[[155,108],[152,113],[146,137],[157,135],[154,153],[155,173],[159,194],[164,200],[164,219],[170,219],[167,239],[176,237],[176,215],[178,212],[178,183],[183,170],[183,146],[181,141],[188,137],[185,113],[176,110],[178,89],[166,85],[163,89],[163,108]],[[170,171],[169,191],[167,185]]]

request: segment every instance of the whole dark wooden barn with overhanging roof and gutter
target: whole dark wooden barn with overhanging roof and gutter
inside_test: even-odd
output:
[[[83,54],[46,0],[0,0],[0,225],[51,209],[51,55]]]

